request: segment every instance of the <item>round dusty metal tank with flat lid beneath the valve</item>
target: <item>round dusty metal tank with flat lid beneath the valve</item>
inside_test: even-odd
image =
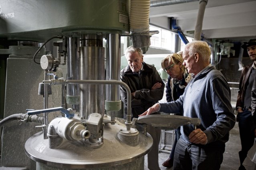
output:
[[[37,162],[37,170],[143,170],[144,155],[152,146],[152,137],[139,132],[138,145],[130,146],[118,138],[119,132],[125,130],[123,124],[106,124],[104,128],[104,144],[99,148],[81,141],[64,141],[51,149],[48,140],[43,140],[42,132],[39,132],[26,141],[25,151]]]

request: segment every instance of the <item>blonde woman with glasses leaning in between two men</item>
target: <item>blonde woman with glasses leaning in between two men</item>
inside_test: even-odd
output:
[[[168,55],[161,61],[163,70],[169,75],[166,83],[166,100],[167,102],[175,101],[179,99],[184,93],[187,83],[192,79],[191,74],[187,73],[185,66],[182,65],[182,51]],[[176,115],[181,115],[181,113]],[[175,152],[175,146],[180,136],[180,127],[175,130],[175,141],[171,148],[169,158],[163,162],[163,166],[171,168],[173,166],[173,157]]]

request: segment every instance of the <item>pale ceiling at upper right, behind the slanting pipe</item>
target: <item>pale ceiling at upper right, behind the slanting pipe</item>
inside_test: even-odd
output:
[[[200,0],[179,4],[171,4],[174,1],[169,0],[168,5],[167,0],[157,2],[165,5],[150,8],[151,24],[169,29],[168,18],[173,17],[183,33],[193,37]],[[208,0],[202,34],[207,39],[256,38],[256,0]]]

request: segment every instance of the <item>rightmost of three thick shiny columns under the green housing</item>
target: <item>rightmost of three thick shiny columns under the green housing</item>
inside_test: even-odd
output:
[[[107,34],[106,80],[120,80],[121,36]],[[106,85],[106,101],[120,101],[119,85]],[[115,121],[115,111],[111,111],[111,121]]]

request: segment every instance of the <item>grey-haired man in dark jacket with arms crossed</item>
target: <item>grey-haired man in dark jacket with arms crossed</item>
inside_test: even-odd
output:
[[[126,83],[131,90],[131,112],[132,118],[145,112],[158,100],[163,98],[164,83],[154,66],[143,62],[142,50],[130,46],[125,51],[128,61],[127,67],[121,70],[121,81]],[[127,111],[127,93],[121,87],[121,99],[125,104],[125,115]],[[148,168],[150,170],[160,170],[158,164],[158,145],[161,130],[147,125],[147,132],[153,138],[153,146],[147,154]]]

